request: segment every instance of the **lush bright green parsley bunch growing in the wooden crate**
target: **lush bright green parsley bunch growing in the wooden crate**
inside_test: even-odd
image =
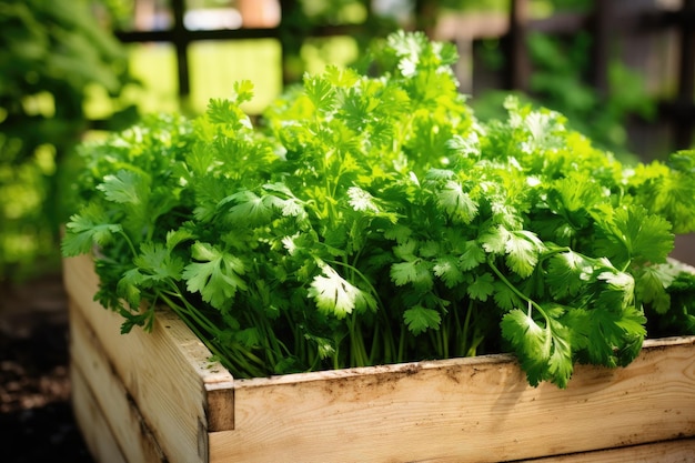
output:
[[[532,384],[695,328],[695,152],[622,165],[513,98],[477,121],[450,44],[390,36],[254,128],[240,104],[82,147],[63,253],[95,251],[123,331],[167,304],[236,376],[512,351]]]

